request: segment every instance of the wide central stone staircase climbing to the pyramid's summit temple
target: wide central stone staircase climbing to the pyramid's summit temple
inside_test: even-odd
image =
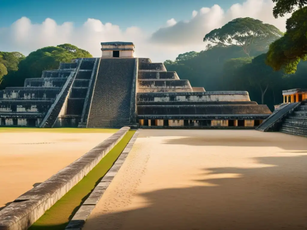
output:
[[[130,124],[135,58],[102,58],[95,81],[87,128]]]

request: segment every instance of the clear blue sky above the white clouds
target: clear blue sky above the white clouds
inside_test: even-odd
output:
[[[220,5],[223,9],[243,0],[0,0],[0,27],[8,27],[25,16],[32,23],[41,23],[47,17],[58,24],[72,21],[76,26],[87,18],[95,18],[102,23],[111,22],[121,29],[138,26],[152,30],[165,21],[189,20],[193,10]]]

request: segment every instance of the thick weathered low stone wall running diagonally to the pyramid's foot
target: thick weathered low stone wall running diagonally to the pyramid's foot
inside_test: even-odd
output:
[[[0,230],[26,230],[75,186],[122,139],[123,127],[82,157],[0,211]]]

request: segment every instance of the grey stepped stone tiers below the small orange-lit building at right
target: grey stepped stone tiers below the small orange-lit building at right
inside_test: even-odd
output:
[[[301,105],[285,119],[279,131],[307,136],[307,101],[302,102]]]

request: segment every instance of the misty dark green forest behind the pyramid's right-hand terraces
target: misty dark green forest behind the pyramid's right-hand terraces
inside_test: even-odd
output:
[[[266,65],[266,51],[252,49],[251,57],[247,57],[235,45],[213,46],[191,59],[167,61],[165,67],[206,91],[248,91],[252,101],[267,104],[273,110],[274,105],[283,102],[282,90],[307,88],[307,62],[300,62],[295,74],[285,74]]]

